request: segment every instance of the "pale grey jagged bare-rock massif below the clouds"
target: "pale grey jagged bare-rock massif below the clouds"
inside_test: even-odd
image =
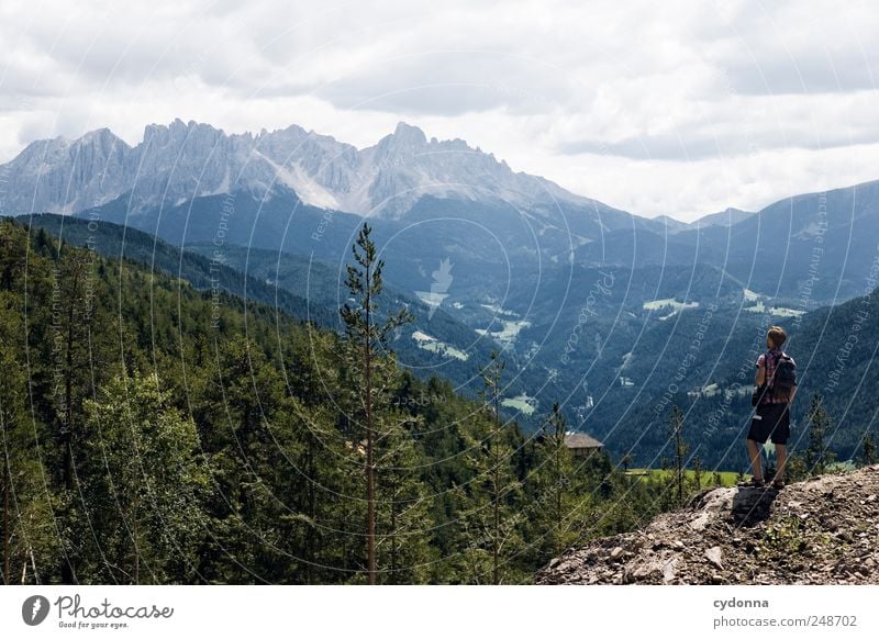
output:
[[[136,212],[236,189],[255,197],[281,189],[314,206],[393,216],[424,195],[522,206],[585,200],[514,173],[463,139],[429,143],[405,122],[359,150],[298,125],[226,135],[178,117],[147,125],[134,147],[107,128],[75,142],[34,143],[5,168],[13,187],[7,203],[15,213],[75,213],[126,193]]]

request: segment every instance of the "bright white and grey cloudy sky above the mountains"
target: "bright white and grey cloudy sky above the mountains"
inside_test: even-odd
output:
[[[868,1],[3,0],[0,161],[175,117],[358,147],[405,121],[692,220],[879,178],[877,34]]]

